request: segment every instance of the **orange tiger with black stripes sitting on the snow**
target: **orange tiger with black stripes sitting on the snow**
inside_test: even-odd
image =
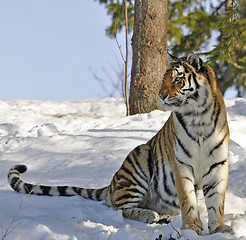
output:
[[[123,161],[111,183],[100,189],[26,183],[25,165],[9,170],[19,193],[75,196],[106,202],[123,217],[145,223],[169,223],[181,214],[182,229],[203,231],[197,203],[203,192],[210,234],[233,229],[224,224],[228,180],[229,128],[222,94],[212,68],[194,53],[169,54],[159,99],[171,111],[164,126]]]

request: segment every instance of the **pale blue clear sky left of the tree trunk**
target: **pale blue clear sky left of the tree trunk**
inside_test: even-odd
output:
[[[0,99],[108,96],[89,69],[107,80],[105,68],[115,79],[112,66],[123,64],[105,34],[110,22],[94,0],[0,1]]]

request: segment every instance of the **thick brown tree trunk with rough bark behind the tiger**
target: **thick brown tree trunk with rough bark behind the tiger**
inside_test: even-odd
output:
[[[130,114],[158,109],[166,68],[167,0],[135,0]]]

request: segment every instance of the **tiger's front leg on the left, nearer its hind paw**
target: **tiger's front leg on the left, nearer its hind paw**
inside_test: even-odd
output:
[[[182,229],[192,229],[197,234],[202,234],[193,168],[178,160],[173,164],[173,170],[181,208]]]

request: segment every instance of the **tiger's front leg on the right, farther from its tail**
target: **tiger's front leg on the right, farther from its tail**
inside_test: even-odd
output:
[[[209,169],[209,174],[206,173],[203,176],[203,194],[208,210],[208,229],[211,234],[216,232],[234,234],[230,226],[224,225],[228,160],[215,163],[212,167]]]

